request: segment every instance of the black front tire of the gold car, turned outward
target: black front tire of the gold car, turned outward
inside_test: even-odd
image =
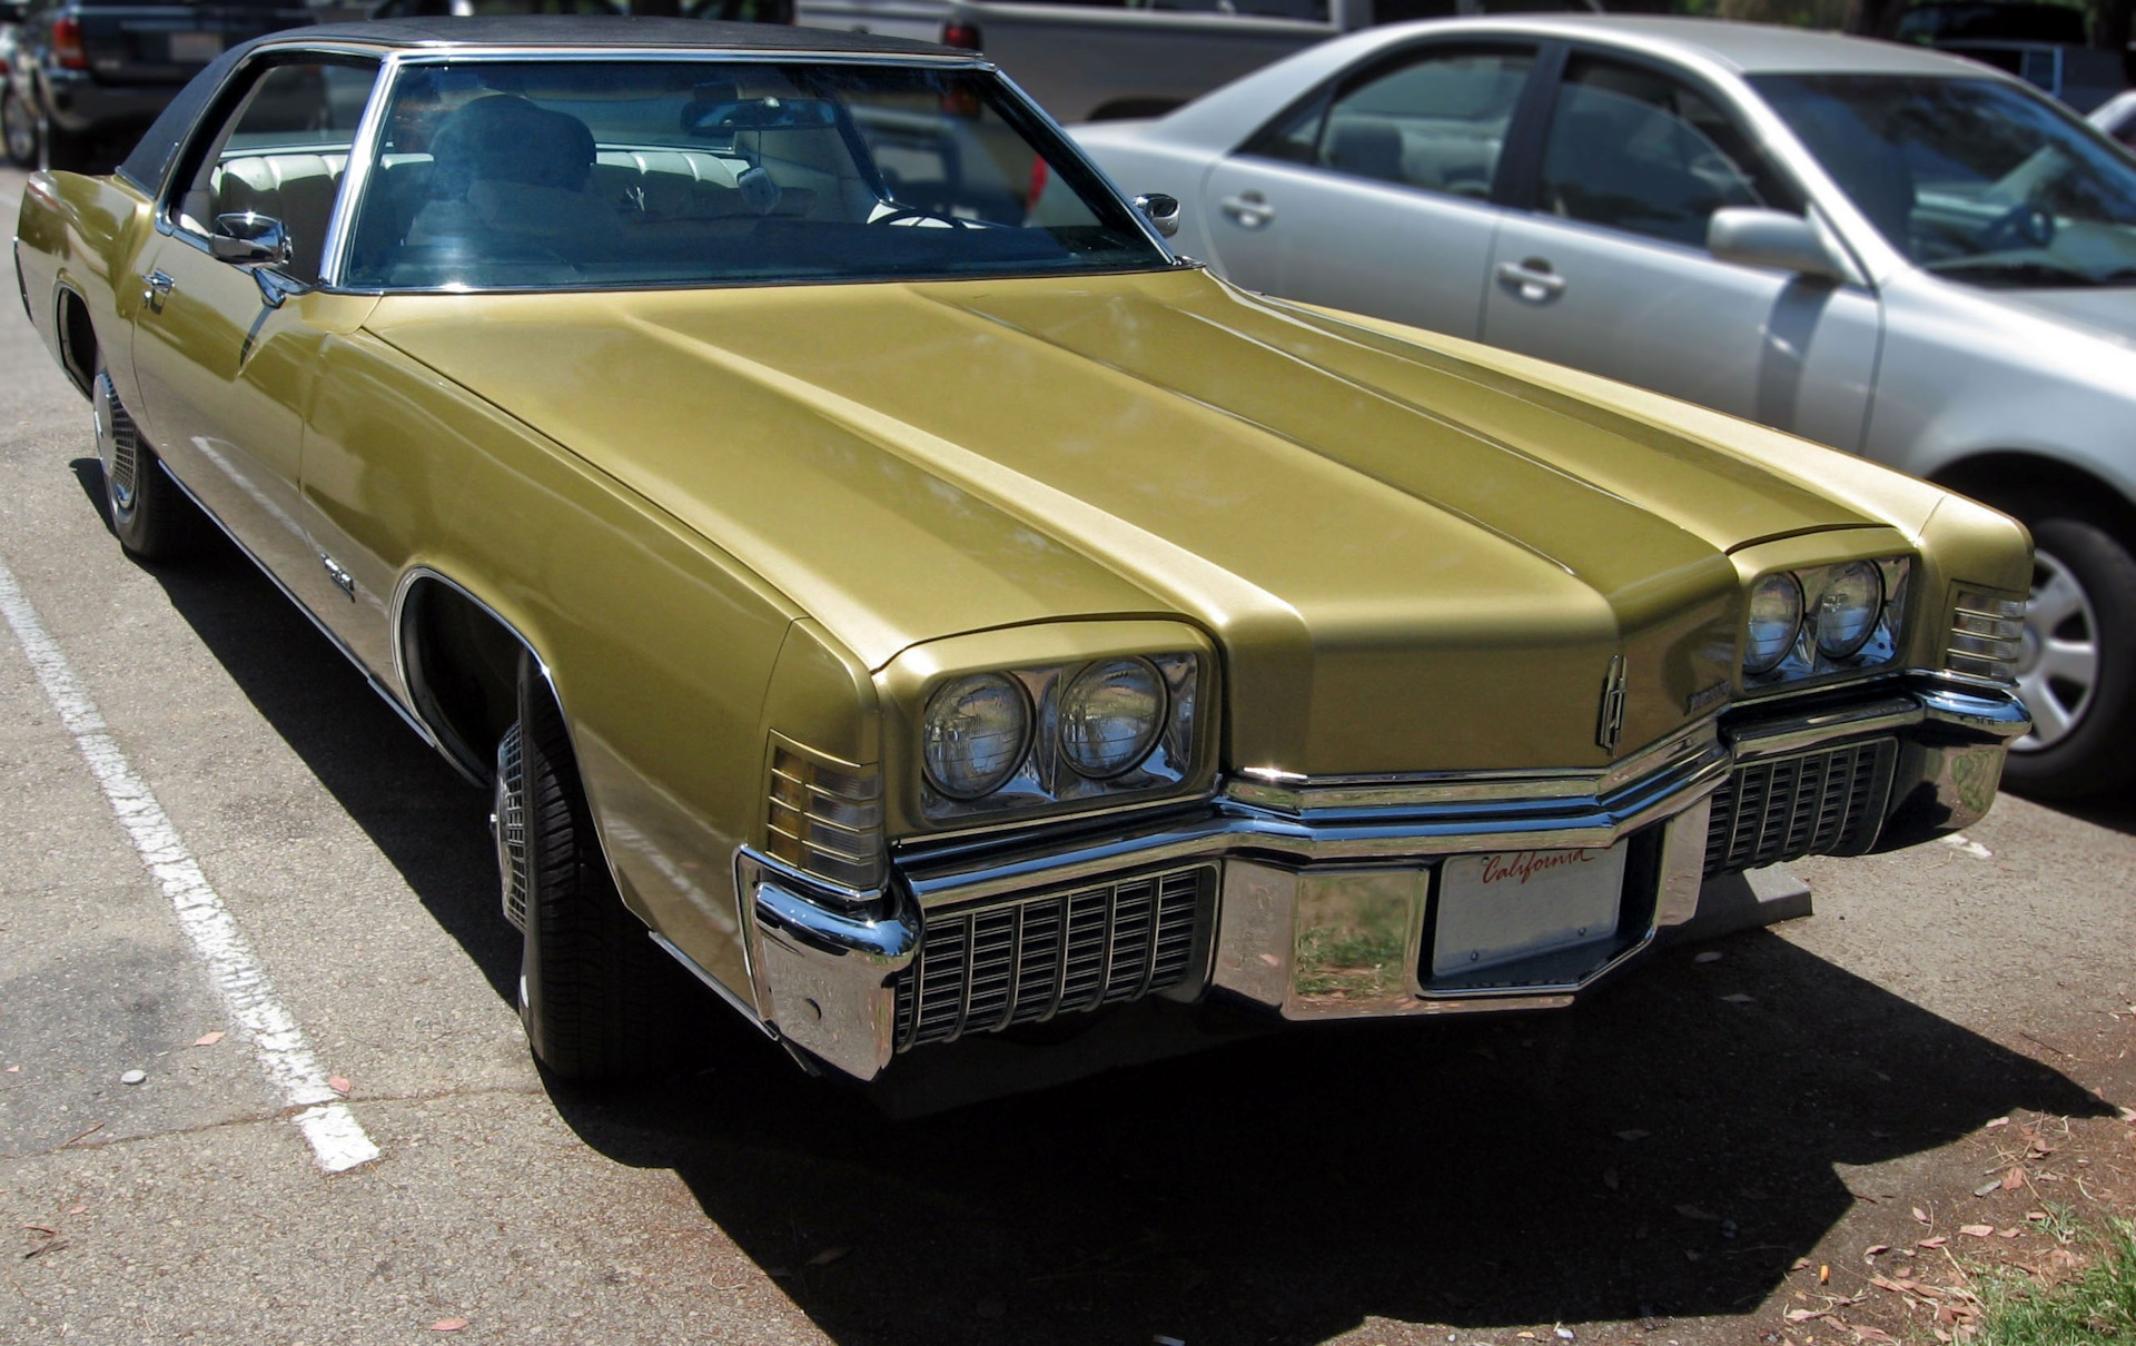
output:
[[[696,998],[615,891],[564,714],[525,654],[498,765],[500,878],[506,914],[523,910],[519,1017],[534,1058],[579,1085],[656,1075],[690,1036]]]

